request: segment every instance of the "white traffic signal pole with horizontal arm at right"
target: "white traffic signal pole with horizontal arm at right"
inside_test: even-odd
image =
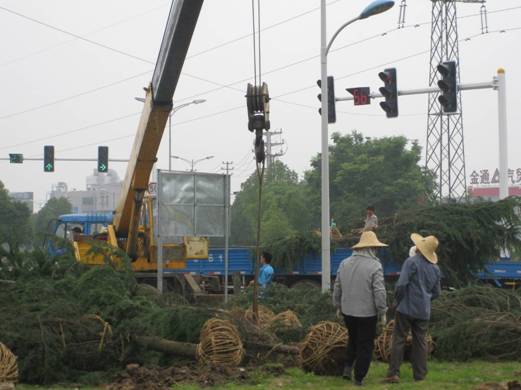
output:
[[[508,131],[507,131],[507,109],[506,109],[506,78],[505,70],[498,69],[497,76],[492,81],[482,83],[460,84],[458,90],[472,91],[476,89],[493,89],[498,92],[498,140],[499,140],[499,198],[508,197]],[[398,90],[398,96],[426,95],[440,92],[437,87],[418,88],[409,90]],[[385,98],[381,93],[370,93],[371,99]],[[354,96],[335,98],[337,102],[355,100]],[[450,114],[449,114],[450,115]]]

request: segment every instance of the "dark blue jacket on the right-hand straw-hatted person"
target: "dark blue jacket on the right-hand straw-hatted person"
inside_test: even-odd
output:
[[[402,266],[394,297],[396,308],[409,317],[430,320],[431,301],[440,295],[440,269],[422,255],[409,257]]]

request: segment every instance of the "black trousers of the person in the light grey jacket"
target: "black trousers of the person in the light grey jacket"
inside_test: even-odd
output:
[[[344,322],[349,332],[346,365],[354,365],[355,380],[362,381],[373,358],[377,318],[344,315]]]

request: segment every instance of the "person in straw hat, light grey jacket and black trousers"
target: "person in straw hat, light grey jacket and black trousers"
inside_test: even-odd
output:
[[[340,263],[336,275],[333,304],[349,331],[343,377],[351,380],[354,368],[355,385],[362,385],[369,370],[376,327],[386,322],[383,269],[376,257],[377,249],[385,246],[374,232],[363,232],[360,242],[353,246],[353,254]]]

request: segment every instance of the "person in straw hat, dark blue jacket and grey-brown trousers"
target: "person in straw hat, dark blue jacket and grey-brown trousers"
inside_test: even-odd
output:
[[[411,364],[416,381],[427,375],[427,329],[431,317],[431,301],[440,295],[440,269],[437,266],[438,239],[413,233],[411,240],[416,250],[403,263],[396,283],[394,297],[397,303],[391,345],[389,370],[385,381],[400,381],[405,340],[412,331]]]

